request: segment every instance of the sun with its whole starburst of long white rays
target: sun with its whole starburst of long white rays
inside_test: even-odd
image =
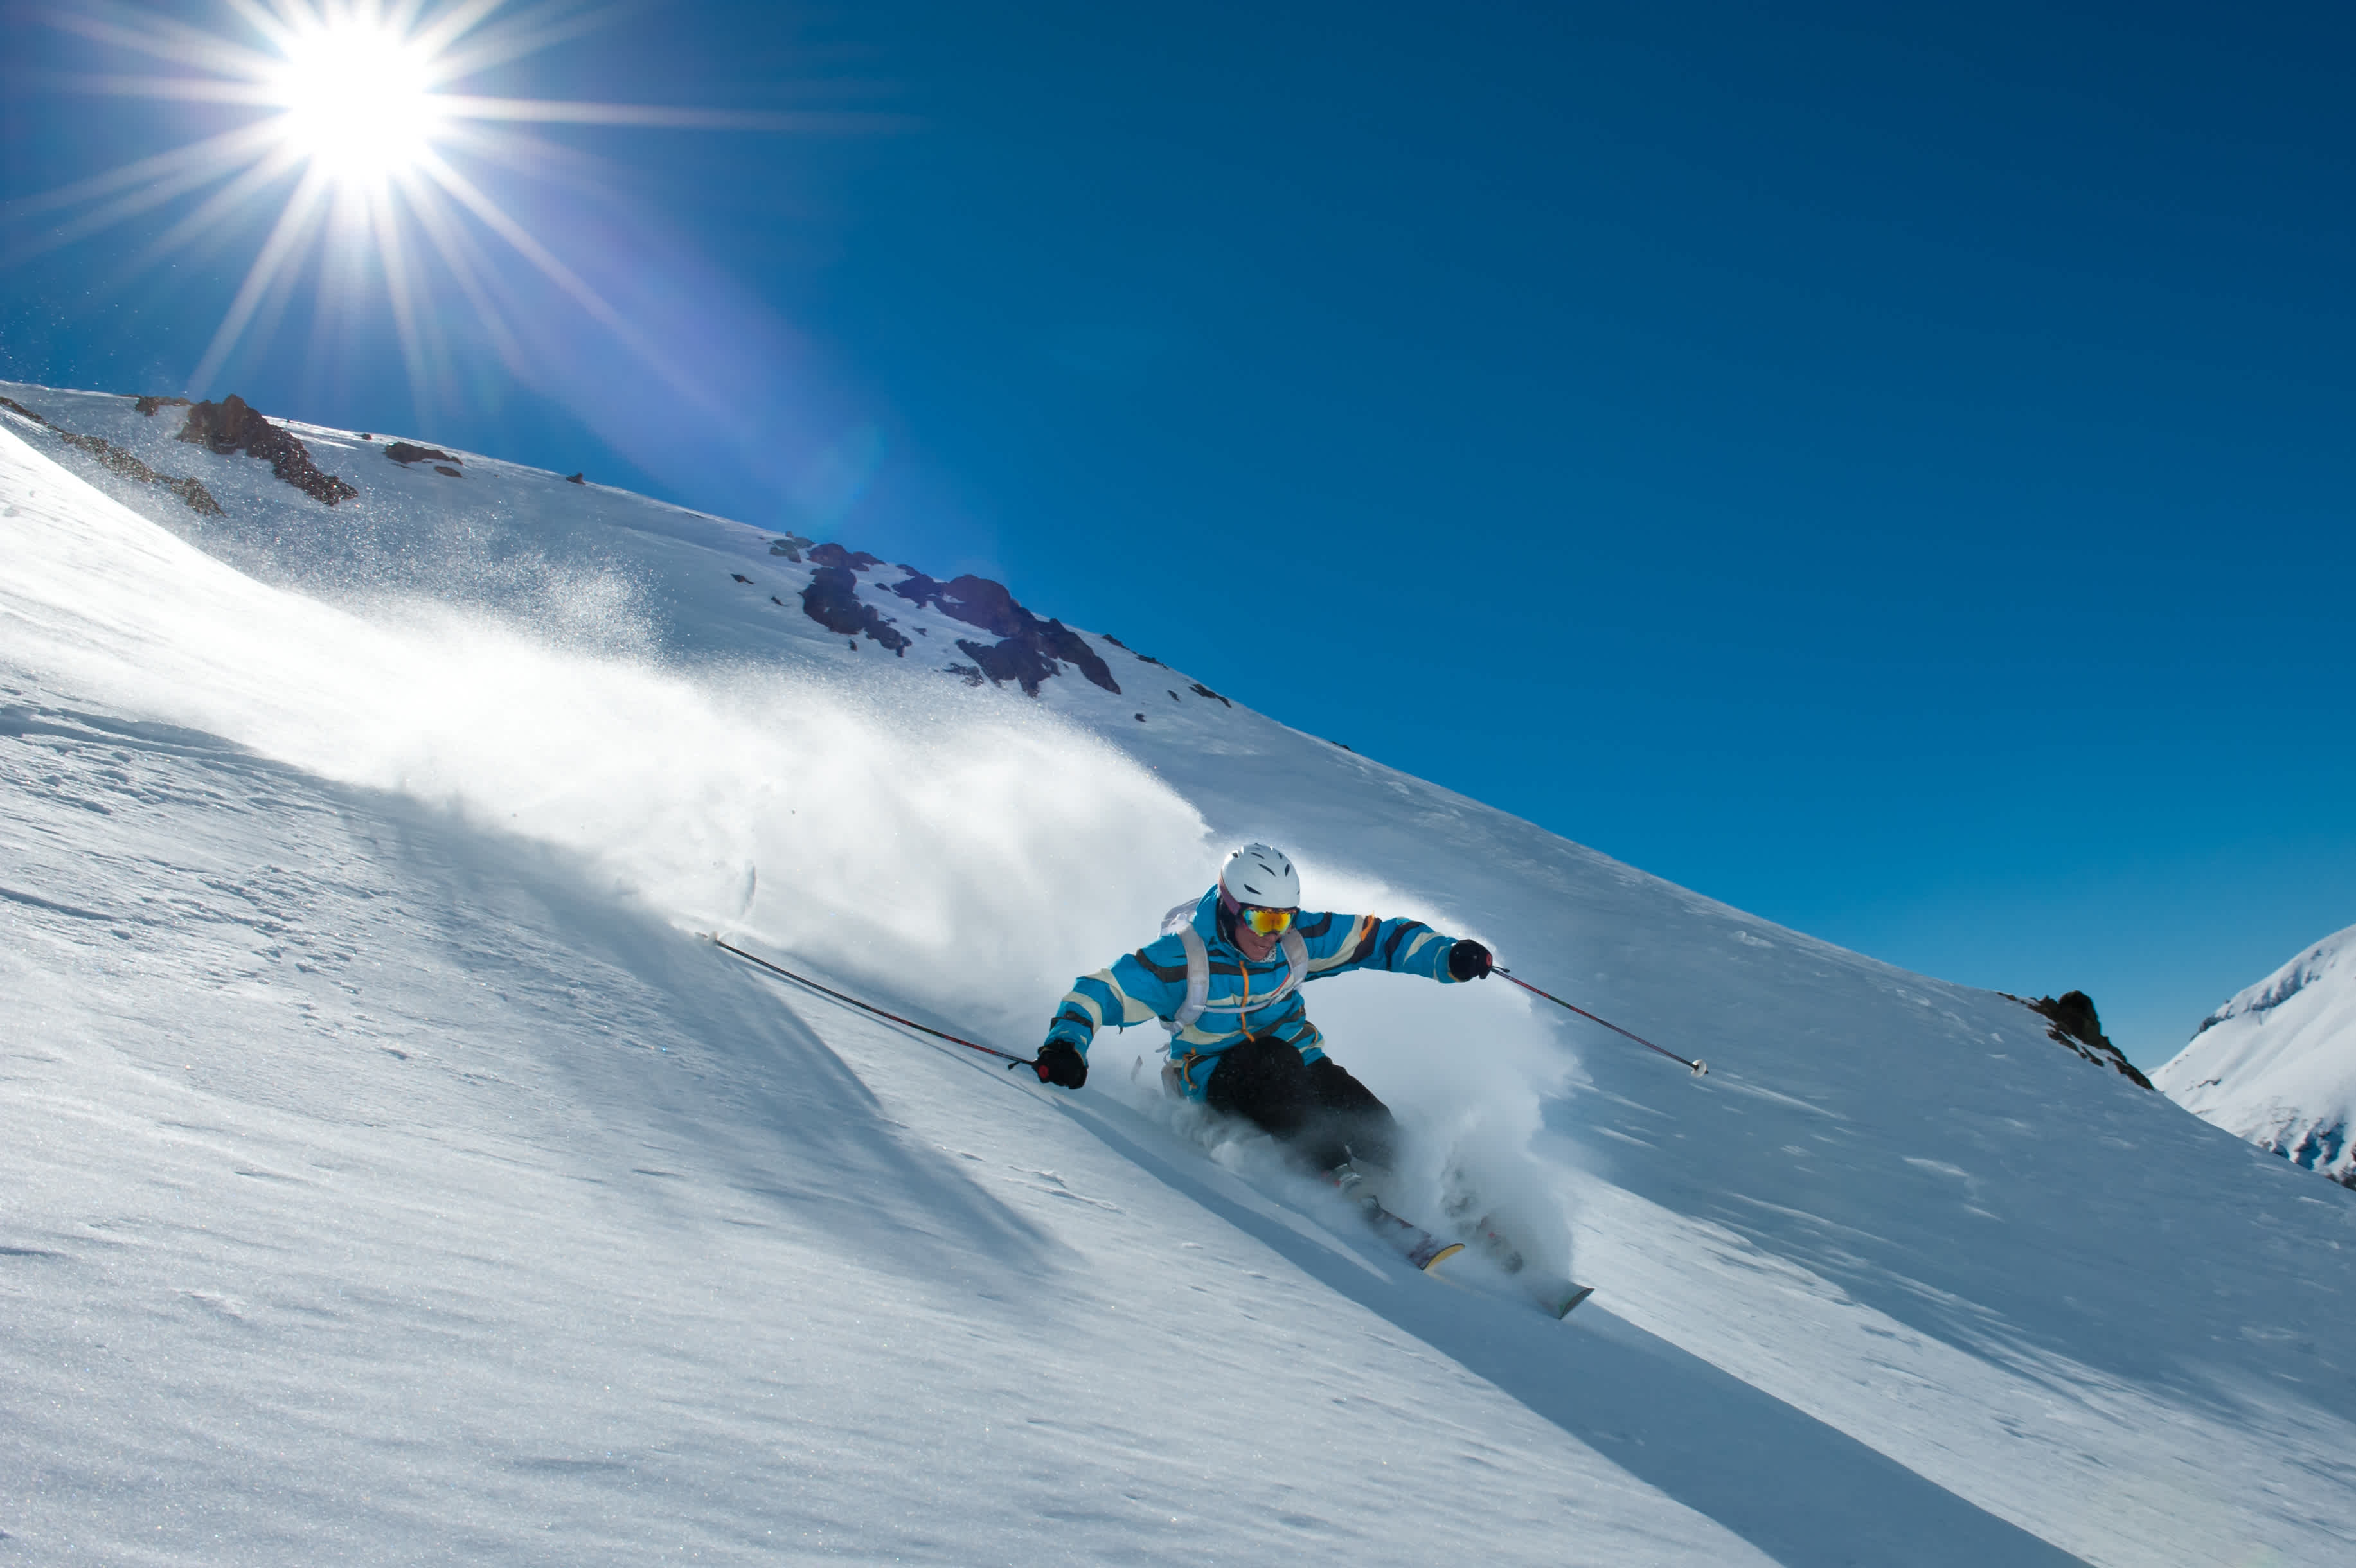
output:
[[[80,75],[71,87],[221,104],[231,113],[247,111],[250,118],[167,153],[14,202],[9,212],[19,221],[47,214],[47,228],[16,250],[24,257],[167,202],[191,202],[132,257],[132,266],[153,266],[285,191],[276,224],[188,374],[191,396],[210,388],[257,320],[273,315],[294,278],[311,266],[323,268],[327,294],[349,306],[349,275],[358,264],[375,264],[412,388],[431,381],[431,367],[441,358],[431,311],[424,308],[426,254],[441,261],[492,344],[514,363],[516,334],[495,287],[492,252],[502,245],[662,370],[655,346],[577,268],[469,179],[459,167],[464,155],[509,170],[577,170],[584,162],[518,129],[535,122],[754,132],[874,129],[888,122],[881,115],[459,92],[492,66],[521,61],[610,21],[610,7],[589,9],[580,0],[544,0],[518,12],[509,12],[507,0],[224,0],[224,7],[247,42],[132,5],[85,2],[45,14],[42,21],[54,28],[146,64],[146,71]],[[492,250],[485,250],[483,235],[492,235]]]

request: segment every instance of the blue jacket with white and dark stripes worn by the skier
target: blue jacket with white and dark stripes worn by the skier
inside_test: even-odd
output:
[[[1284,991],[1291,965],[1277,949],[1268,963],[1251,963],[1218,935],[1218,888],[1194,904],[1192,928],[1211,956],[1211,994],[1204,1012],[1171,1034],[1171,1057],[1190,1097],[1202,1099],[1218,1057],[1242,1041],[1277,1038],[1301,1050],[1303,1062],[1324,1055],[1324,1036],[1301,1005],[1301,989]],[[1308,913],[1293,921],[1308,956],[1303,982],[1345,970],[1392,970],[1451,984],[1449,949],[1456,946],[1423,921]],[[1279,996],[1279,991],[1284,991]],[[1256,1003],[1270,996],[1270,1003]],[[1185,1005],[1185,939],[1176,932],[1124,954],[1110,970],[1081,975],[1055,1008],[1046,1038],[1070,1041],[1086,1055],[1098,1029],[1173,1022]]]

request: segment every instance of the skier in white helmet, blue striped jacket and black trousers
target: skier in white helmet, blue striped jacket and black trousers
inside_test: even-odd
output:
[[[1098,1029],[1162,1019],[1171,1031],[1162,1071],[1173,1090],[1251,1121],[1315,1170],[1355,1168],[1381,1182],[1399,1123],[1324,1052],[1301,986],[1362,968],[1440,984],[1482,979],[1489,949],[1449,942],[1423,921],[1303,913],[1301,873],[1265,843],[1230,855],[1218,885],[1173,909],[1162,930],[1072,982],[1039,1048],[1039,1081],[1079,1088]]]

